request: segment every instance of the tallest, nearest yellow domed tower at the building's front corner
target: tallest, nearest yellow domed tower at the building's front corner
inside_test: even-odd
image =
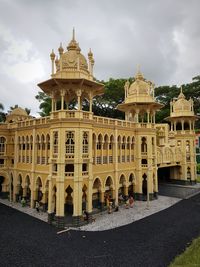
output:
[[[87,62],[74,30],[67,50],[61,44],[58,52],[59,57],[54,51],[50,54],[51,79],[38,86],[52,99],[49,221],[55,211],[57,226],[63,227],[65,212],[72,213],[74,222],[79,223],[82,200],[88,212],[92,211],[88,206],[92,203],[93,178],[92,99],[103,93],[104,86],[94,81],[93,54],[90,50]],[[83,111],[83,103],[88,102],[89,110]]]

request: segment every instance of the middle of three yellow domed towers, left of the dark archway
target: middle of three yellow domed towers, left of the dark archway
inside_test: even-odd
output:
[[[136,174],[140,181],[136,191],[141,199],[158,192],[155,113],[162,105],[154,99],[154,84],[146,81],[140,71],[131,85],[126,82],[124,90],[125,101],[118,109],[125,112],[126,120],[136,123]]]

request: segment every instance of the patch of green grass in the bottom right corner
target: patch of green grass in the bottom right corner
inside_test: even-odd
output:
[[[200,266],[200,237],[194,239],[185,252],[175,258],[169,267],[199,267]]]

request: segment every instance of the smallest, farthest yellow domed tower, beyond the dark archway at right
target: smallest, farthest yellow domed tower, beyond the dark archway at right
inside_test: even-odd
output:
[[[193,100],[187,100],[181,92],[177,100],[170,102],[170,117],[168,120],[171,124],[171,133],[175,137],[175,146],[181,148],[183,164],[180,173],[174,173],[173,179],[187,184],[196,181],[196,155],[195,155],[195,132],[194,125],[197,116],[194,115]],[[178,155],[176,155],[178,156]]]

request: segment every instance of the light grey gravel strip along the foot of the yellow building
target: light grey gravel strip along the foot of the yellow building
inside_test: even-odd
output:
[[[150,201],[148,209],[147,202],[135,201],[133,208],[125,209],[125,206],[123,205],[119,208],[118,212],[113,212],[111,214],[108,214],[107,212],[96,214],[95,222],[84,225],[78,229],[84,231],[103,231],[113,229],[122,225],[130,224],[134,221],[166,209],[180,200],[181,199],[179,198],[159,196],[157,200]],[[38,213],[35,209],[22,207],[20,203],[11,203],[6,199],[0,199],[0,203],[47,222],[46,212]]]

